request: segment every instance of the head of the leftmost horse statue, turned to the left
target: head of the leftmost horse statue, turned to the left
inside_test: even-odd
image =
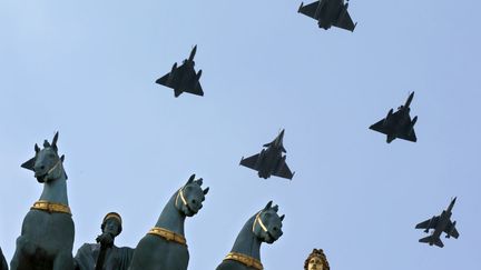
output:
[[[47,140],[43,141],[43,149],[40,149],[36,143],[36,156],[21,164],[22,168],[32,170],[35,177],[41,183],[56,180],[62,177],[62,174],[67,179],[62,164],[65,156],[59,157],[57,140],[58,132],[53,136],[51,144]]]

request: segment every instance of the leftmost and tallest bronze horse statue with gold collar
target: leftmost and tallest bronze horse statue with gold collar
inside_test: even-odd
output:
[[[36,156],[21,166],[35,172],[43,191],[23,219],[11,270],[73,269],[73,221],[67,198],[65,156],[59,157],[57,140],[58,132],[51,144],[45,140],[43,149],[36,144]]]

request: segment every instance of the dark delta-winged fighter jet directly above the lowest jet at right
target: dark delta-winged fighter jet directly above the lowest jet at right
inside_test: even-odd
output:
[[[413,98],[414,92],[409,96],[404,106],[397,108],[396,112],[393,113],[393,109],[391,109],[384,119],[372,124],[370,129],[386,134],[387,143],[391,143],[395,138],[415,142],[418,138],[414,132],[414,124],[418,121],[418,117],[414,117],[414,119],[411,120],[409,114],[410,104]]]

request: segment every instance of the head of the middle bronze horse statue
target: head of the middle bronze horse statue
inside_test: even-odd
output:
[[[195,179],[192,174],[178,191],[175,200],[176,208],[185,216],[193,217],[203,208],[203,201],[209,188],[202,189],[203,179]]]

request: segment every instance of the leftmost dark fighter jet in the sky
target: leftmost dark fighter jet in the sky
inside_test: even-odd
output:
[[[174,63],[170,72],[156,80],[156,83],[174,89],[174,96],[176,98],[183,92],[204,96],[204,91],[199,82],[202,70],[196,73],[194,69],[194,57],[196,51],[197,46],[194,47],[189,58],[185,59],[180,67],[177,67],[177,62]]]

